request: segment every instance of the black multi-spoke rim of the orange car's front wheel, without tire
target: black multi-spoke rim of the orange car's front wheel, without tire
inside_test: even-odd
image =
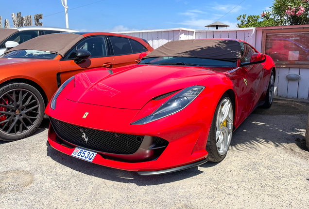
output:
[[[39,118],[40,105],[29,90],[9,90],[0,96],[0,132],[20,135],[30,130]]]

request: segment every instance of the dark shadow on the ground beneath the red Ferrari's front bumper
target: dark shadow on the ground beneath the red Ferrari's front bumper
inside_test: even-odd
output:
[[[47,156],[59,164],[65,165],[75,171],[86,175],[94,176],[100,179],[117,181],[121,183],[135,183],[139,186],[158,185],[171,183],[183,179],[188,179],[203,173],[198,167],[189,168],[187,170],[178,171],[170,174],[156,176],[139,176],[137,172],[124,171],[115,168],[105,167],[98,164],[92,164],[67,154],[64,154],[51,146],[47,147]]]

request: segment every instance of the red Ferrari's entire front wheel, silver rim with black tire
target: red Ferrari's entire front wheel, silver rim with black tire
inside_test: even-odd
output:
[[[233,105],[228,94],[221,97],[212,119],[208,134],[206,151],[211,162],[222,161],[231,144],[233,132]]]

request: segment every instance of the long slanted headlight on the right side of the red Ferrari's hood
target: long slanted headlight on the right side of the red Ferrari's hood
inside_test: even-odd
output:
[[[176,95],[174,95],[167,102],[162,104],[157,110],[155,110],[151,115],[139,119],[132,124],[141,125],[152,122],[157,119],[161,119],[172,115],[188,106],[201,92],[204,90],[204,86],[193,86],[188,87]]]

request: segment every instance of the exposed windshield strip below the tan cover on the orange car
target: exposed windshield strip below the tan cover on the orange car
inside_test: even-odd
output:
[[[16,50],[4,54],[3,58],[27,58],[27,59],[47,59],[52,60],[57,56],[57,54],[46,52],[46,51],[38,51],[38,50]]]

